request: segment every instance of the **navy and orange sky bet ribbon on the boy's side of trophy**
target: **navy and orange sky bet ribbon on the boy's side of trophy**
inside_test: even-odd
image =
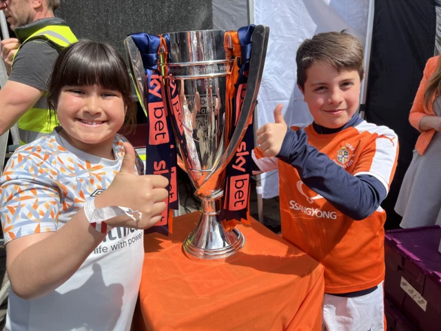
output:
[[[233,128],[237,125],[247,90],[253,31],[254,25],[250,25],[240,28],[237,32],[226,32],[231,34],[232,52],[236,56],[227,88],[226,116],[230,119],[226,121],[230,126],[227,127],[227,143],[232,137]],[[224,222],[226,229],[234,228],[238,221],[247,222],[249,219],[249,177],[252,174],[253,148],[254,128],[251,119],[243,141],[240,142],[232,161],[227,165],[223,210],[220,213],[220,220]]]

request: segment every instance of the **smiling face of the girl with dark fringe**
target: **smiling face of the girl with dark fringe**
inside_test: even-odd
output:
[[[116,132],[124,123],[121,92],[103,86],[63,86],[57,115],[62,134],[75,148],[88,154],[113,159]]]

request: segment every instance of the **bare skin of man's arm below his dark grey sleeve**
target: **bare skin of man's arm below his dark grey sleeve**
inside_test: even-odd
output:
[[[38,88],[8,80],[0,90],[0,134],[12,127],[42,94]]]

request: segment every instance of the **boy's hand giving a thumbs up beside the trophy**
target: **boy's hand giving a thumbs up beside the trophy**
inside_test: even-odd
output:
[[[274,109],[274,123],[267,123],[257,130],[257,140],[260,152],[264,157],[275,157],[282,148],[283,139],[287,134],[288,126],[283,119],[283,105],[279,103]]]

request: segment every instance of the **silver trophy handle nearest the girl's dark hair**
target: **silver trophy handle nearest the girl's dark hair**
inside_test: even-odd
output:
[[[138,95],[139,103],[147,116],[147,108],[145,108],[145,72],[143,66],[143,59],[139,48],[134,43],[132,36],[124,39],[125,54],[127,55],[127,62],[132,76],[132,81]]]

